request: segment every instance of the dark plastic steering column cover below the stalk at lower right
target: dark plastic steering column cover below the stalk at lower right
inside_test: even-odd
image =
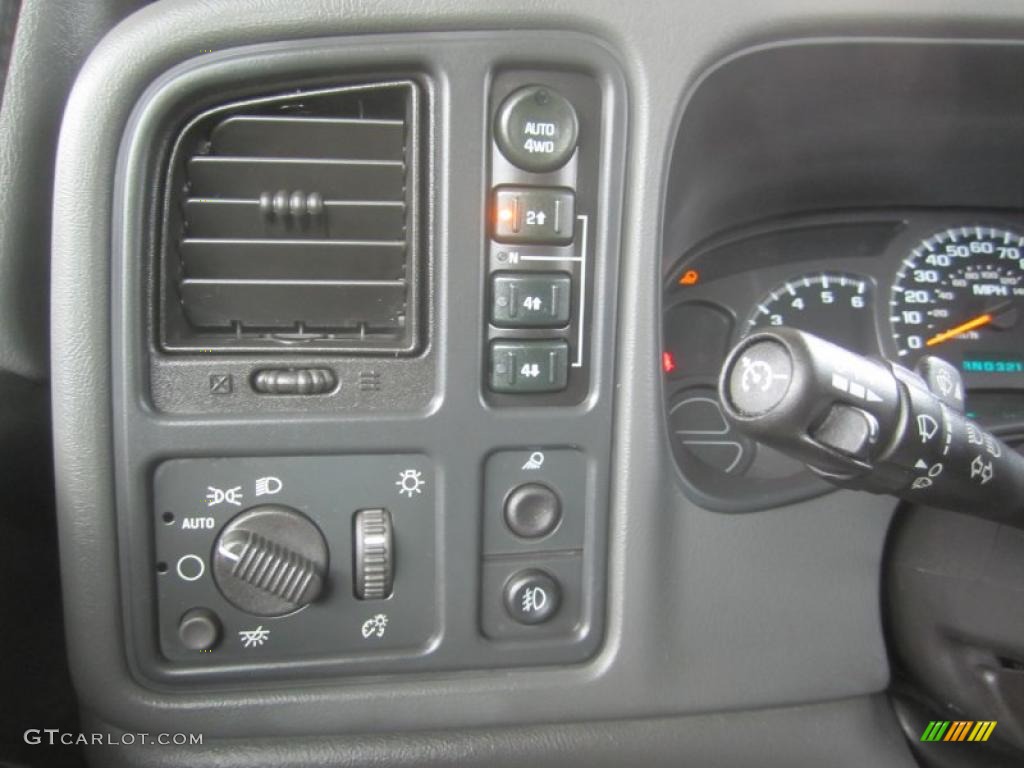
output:
[[[894,523],[889,555],[899,666],[940,705],[996,720],[996,742],[1024,750],[1024,532],[920,507]]]

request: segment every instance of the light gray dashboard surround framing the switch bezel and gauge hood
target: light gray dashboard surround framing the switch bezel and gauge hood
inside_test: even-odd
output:
[[[842,494],[756,516],[725,516],[697,508],[667,479],[671,458],[663,444],[654,365],[659,307],[652,300],[660,285],[658,219],[667,156],[699,73],[744,43],[824,32],[1007,35],[1020,28],[1014,2],[974,3],[957,15],[940,0],[871,0],[848,8],[798,0],[629,6],[606,0],[384,6],[185,0],[154,4],[127,20],[97,48],[69,104],[53,231],[62,571],[72,666],[85,706],[121,727],[157,730],[172,722],[175,730],[205,731],[212,742],[251,735],[254,724],[269,737],[557,723],[821,701],[884,688],[888,667],[878,582],[891,504]],[[561,670],[326,682],[262,693],[168,695],[139,685],[126,667],[121,639],[109,410],[111,188],[128,114],[151,81],[204,50],[325,35],[457,29],[592,33],[620,58],[631,89],[616,366],[626,373],[616,396],[605,646],[593,662]],[[822,583],[837,589],[821,589]],[[831,707],[812,711],[842,712]],[[804,710],[783,714],[778,725],[799,729],[805,715]],[[683,731],[692,734],[696,762],[714,764],[716,748],[735,742],[735,729],[750,717],[757,716],[716,715],[716,723],[728,725]],[[838,741],[828,752],[833,764],[909,764],[898,739],[880,739],[884,746],[878,754],[864,753],[860,738],[874,735],[873,716],[837,717],[843,724],[837,727],[860,736]],[[581,731],[581,754],[604,749],[601,730]],[[638,744],[660,738],[623,737]],[[480,739],[487,743],[484,734]],[[722,764],[764,764],[754,733],[752,739],[750,749],[723,753]],[[372,749],[373,740],[365,743]],[[810,741],[799,744],[807,748],[800,755],[815,757],[809,763],[822,762]],[[288,754],[288,746],[282,749]],[[518,762],[517,749],[508,737],[485,754],[511,755]],[[366,753],[366,760],[372,754]],[[701,755],[709,759],[701,761]],[[802,761],[788,757],[780,753],[779,764]],[[467,756],[467,762],[472,759]],[[211,757],[209,764],[230,764],[223,760]]]

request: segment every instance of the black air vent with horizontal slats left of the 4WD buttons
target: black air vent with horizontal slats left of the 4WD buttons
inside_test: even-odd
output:
[[[364,99],[369,99],[375,104],[377,114],[364,114]],[[330,115],[324,114],[324,104],[334,101],[344,103],[351,100],[358,103],[358,115]],[[313,106],[309,106],[313,104]],[[381,117],[380,108],[384,104],[385,117]],[[348,109],[347,106],[345,109]],[[290,113],[290,110],[296,112]],[[318,111],[317,111],[318,110]],[[372,110],[371,110],[372,111]],[[301,113],[301,114],[300,114]],[[292,88],[286,91],[278,91],[269,95],[261,95],[252,98],[233,100],[220,103],[214,108],[205,110],[189,119],[177,132],[173,139],[168,165],[164,171],[164,200],[160,206],[161,221],[158,222],[158,230],[161,236],[159,248],[158,264],[158,341],[161,349],[171,353],[271,353],[271,354],[387,354],[389,356],[416,354],[422,348],[423,333],[422,323],[422,293],[424,283],[424,253],[425,244],[423,242],[422,223],[422,201],[425,195],[422,189],[422,174],[425,158],[422,154],[423,139],[421,136],[421,113],[422,95],[419,84],[410,78],[393,78],[379,81],[364,80],[358,83],[340,84],[331,87],[310,87]],[[400,118],[396,117],[400,115]],[[248,205],[260,206],[262,202],[264,209],[267,207],[276,208],[280,212],[284,203],[285,216],[293,215],[296,219],[308,217],[306,211],[290,211],[299,202],[302,205],[316,207],[323,212],[332,210],[332,206],[374,206],[379,218],[393,221],[394,216],[386,211],[387,206],[398,205],[402,211],[403,238],[401,242],[394,240],[366,239],[358,238],[327,238],[318,240],[315,238],[226,238],[226,241],[242,242],[252,249],[269,247],[271,250],[275,246],[292,245],[298,249],[309,249],[317,245],[328,248],[351,247],[362,253],[353,254],[353,261],[361,261],[361,267],[353,267],[354,276],[347,280],[315,280],[302,278],[291,280],[289,275],[261,276],[256,279],[259,283],[259,290],[273,291],[275,286],[298,286],[313,292],[326,291],[331,293],[331,289],[339,289],[334,293],[345,296],[353,302],[364,302],[367,306],[373,306],[378,302],[378,289],[388,291],[392,298],[399,293],[403,294],[404,310],[401,313],[400,322],[387,325],[381,324],[373,326],[369,323],[350,323],[347,327],[339,324],[330,326],[327,323],[307,324],[306,326],[293,325],[289,328],[260,327],[252,325],[246,328],[244,324],[233,325],[231,328],[212,326],[204,327],[190,322],[188,309],[184,304],[184,295],[187,288],[193,288],[197,284],[202,284],[203,280],[195,280],[187,275],[185,271],[185,250],[183,243],[186,240],[185,207],[189,202],[189,176],[187,164],[194,158],[203,156],[204,151],[208,151],[211,136],[214,131],[229,120],[236,118],[275,118],[289,117],[289,119],[308,119],[313,121],[330,122],[342,121],[350,124],[362,122],[367,125],[387,121],[394,123],[401,120],[403,123],[402,136],[402,160],[403,160],[403,187],[400,201],[388,200],[358,200],[358,196],[351,196],[332,200],[331,195],[321,194],[313,196],[311,193],[317,190],[307,188],[302,190],[305,197],[302,201],[291,200],[292,193],[296,189],[287,189],[288,196],[284,201],[273,200],[273,195],[281,190],[266,188],[260,190],[259,198],[253,199],[250,195],[245,201]],[[218,157],[218,156],[213,156]],[[231,158],[230,155],[219,156]],[[246,156],[242,157],[245,162]],[[274,158],[282,161],[297,161],[313,164],[322,162],[325,165],[331,164],[332,160],[337,162],[338,158],[331,155],[319,155],[316,157],[296,157],[291,156],[249,156],[252,162],[273,162]],[[374,158],[350,158],[358,163],[376,162]],[[345,162],[345,161],[342,161]],[[388,163],[393,165],[393,163]],[[269,197],[268,197],[269,196]],[[280,197],[280,196],[279,196]],[[268,198],[260,200],[260,198]],[[226,202],[228,198],[218,200]],[[194,199],[195,202],[195,199]],[[302,205],[298,208],[301,209]],[[336,209],[335,209],[336,210]],[[371,209],[367,209],[371,210]],[[265,211],[264,211],[265,212]],[[324,214],[326,215],[326,214]],[[349,217],[351,222],[359,219],[358,214]],[[325,225],[326,226],[326,225]],[[218,245],[211,243],[216,239],[193,239],[191,243],[202,245]],[[395,259],[395,249],[403,251],[401,257],[401,274],[390,274],[387,279],[377,279],[372,274],[374,268],[373,257],[368,253],[368,249],[378,250],[378,252],[391,251],[390,258]],[[238,258],[238,254],[234,254]],[[323,263],[323,260],[321,261]],[[285,267],[288,268],[288,267]],[[271,265],[271,269],[273,266]],[[369,271],[368,271],[369,269]],[[315,271],[315,269],[314,269]],[[236,285],[241,285],[245,279],[236,281]],[[212,283],[230,284],[228,279],[215,279]],[[400,289],[395,290],[400,285]],[[186,288],[187,287],[187,288]],[[216,286],[214,286],[216,288]],[[395,299],[396,300],[396,299]]]

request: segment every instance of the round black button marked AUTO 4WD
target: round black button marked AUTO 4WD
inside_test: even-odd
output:
[[[580,123],[572,104],[543,85],[510,94],[498,111],[495,137],[509,162],[524,171],[561,168],[575,151]]]

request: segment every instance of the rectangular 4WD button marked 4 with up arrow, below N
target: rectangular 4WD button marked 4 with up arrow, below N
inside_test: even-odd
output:
[[[571,288],[564,272],[496,274],[490,322],[502,328],[560,328],[569,322]]]

